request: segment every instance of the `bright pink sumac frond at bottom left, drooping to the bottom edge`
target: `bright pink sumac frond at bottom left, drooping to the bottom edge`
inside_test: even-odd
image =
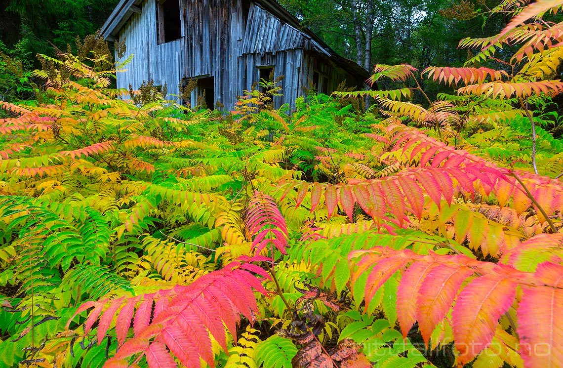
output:
[[[224,325],[236,338],[239,315],[252,321],[252,313],[257,311],[253,290],[266,293],[260,280],[244,268],[244,264],[233,263],[199,277],[189,286],[127,299],[87,302],[75,315],[93,307],[84,331],[88,333],[99,320],[99,343],[117,315],[112,329],[119,350],[105,363],[106,367],[128,364],[129,357],[145,357],[149,367],[175,365],[171,353],[186,366],[199,365],[200,358],[214,366],[209,333],[227,351]],[[132,323],[133,335],[126,340]]]

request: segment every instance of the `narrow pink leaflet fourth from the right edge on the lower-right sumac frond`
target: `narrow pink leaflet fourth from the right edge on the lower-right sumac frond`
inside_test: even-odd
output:
[[[409,333],[410,327],[417,320],[417,299],[422,282],[428,272],[436,266],[436,263],[417,262],[403,272],[403,277],[401,277],[397,289],[397,319],[405,337]]]

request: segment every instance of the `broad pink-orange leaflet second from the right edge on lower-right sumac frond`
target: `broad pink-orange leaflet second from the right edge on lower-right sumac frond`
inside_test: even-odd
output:
[[[515,282],[497,275],[477,277],[463,288],[452,312],[460,364],[471,361],[488,346],[499,318],[508,311],[515,297]]]

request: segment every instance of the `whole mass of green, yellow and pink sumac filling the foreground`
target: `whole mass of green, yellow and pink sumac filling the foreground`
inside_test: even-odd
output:
[[[563,366],[558,7],[293,110],[111,89],[97,37],[42,57],[0,102],[0,366]]]

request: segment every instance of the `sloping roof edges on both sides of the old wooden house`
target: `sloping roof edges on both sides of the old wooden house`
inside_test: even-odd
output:
[[[120,0],[115,9],[111,12],[108,20],[104,23],[101,28],[101,34],[107,41],[113,41],[119,30],[127,23],[129,17],[134,13],[140,13],[141,8],[138,7],[144,0]],[[315,49],[319,53],[324,54],[330,59],[334,60],[339,66],[342,66],[348,71],[358,75],[361,78],[368,78],[368,71],[363,67],[358,65],[356,62],[346,59],[338,55],[332,48],[330,48],[318,35],[311,32],[310,29],[303,27],[300,21],[289,11],[287,11],[278,1],[276,0],[252,0],[258,6],[262,7],[264,10],[269,12],[278,18],[282,23],[291,26],[292,28],[298,30],[303,37],[309,39],[309,41],[314,44]]]

